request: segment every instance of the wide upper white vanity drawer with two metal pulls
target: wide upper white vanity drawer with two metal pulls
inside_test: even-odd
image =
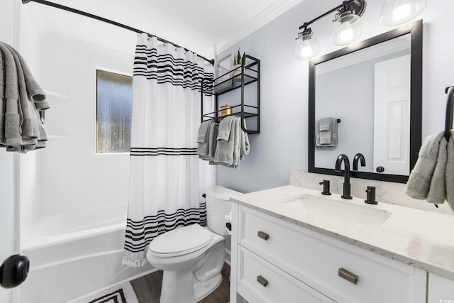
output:
[[[424,302],[422,270],[240,207],[238,242],[336,302]],[[358,275],[357,284],[339,269]],[[415,293],[415,290],[421,290]]]

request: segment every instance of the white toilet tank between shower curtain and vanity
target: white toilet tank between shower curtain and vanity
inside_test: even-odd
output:
[[[222,236],[227,236],[226,215],[232,211],[231,197],[242,193],[221,186],[206,187],[206,221],[208,228]]]

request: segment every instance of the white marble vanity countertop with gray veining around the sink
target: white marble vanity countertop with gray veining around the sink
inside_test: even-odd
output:
[[[296,203],[285,203],[301,195],[314,199],[387,214],[383,222],[371,226],[361,221],[342,221],[335,214],[316,214]],[[243,194],[231,200],[250,209],[275,216],[337,238],[387,258],[454,280],[454,216],[387,203],[365,204],[364,199],[342,199],[339,194],[287,185]],[[314,215],[315,214],[315,215]]]

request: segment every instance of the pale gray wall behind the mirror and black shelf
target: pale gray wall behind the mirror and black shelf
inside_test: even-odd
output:
[[[241,192],[282,186],[289,183],[289,170],[307,171],[308,157],[308,65],[293,57],[298,27],[340,4],[341,1],[301,1],[274,21],[221,53],[241,50],[260,59],[260,134],[250,135],[250,154],[238,170],[217,167],[216,182]],[[380,25],[382,1],[367,1],[362,16],[367,39],[390,31]],[[429,1],[416,19],[423,18],[423,138],[444,127],[444,89],[454,85],[454,43],[448,38],[454,28],[454,1]],[[415,20],[416,20],[415,19]],[[331,45],[333,16],[316,21],[311,28],[321,44],[321,53],[339,47]],[[235,101],[229,101],[233,104]]]

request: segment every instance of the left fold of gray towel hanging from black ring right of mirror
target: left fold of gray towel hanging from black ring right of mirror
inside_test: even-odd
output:
[[[405,194],[414,199],[426,199],[433,171],[438,159],[438,148],[444,132],[428,136],[419,149],[418,160],[411,170],[409,180],[406,182]]]

